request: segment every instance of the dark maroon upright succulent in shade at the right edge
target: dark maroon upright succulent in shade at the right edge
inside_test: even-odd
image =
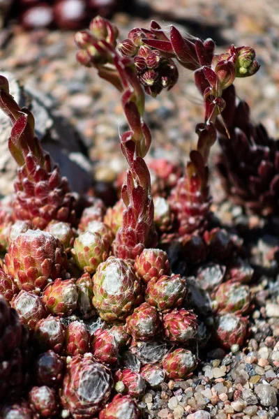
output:
[[[252,59],[250,49],[243,61]],[[248,103],[236,98],[234,86],[224,92],[227,109],[219,122],[222,154],[218,170],[232,200],[248,212],[269,216],[279,212],[278,140],[269,137],[262,124],[253,124]],[[229,140],[228,140],[229,136]]]

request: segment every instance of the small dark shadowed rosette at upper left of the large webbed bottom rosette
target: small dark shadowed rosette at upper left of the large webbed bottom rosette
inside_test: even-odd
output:
[[[63,360],[51,349],[40,353],[33,365],[33,374],[38,385],[53,387],[59,384],[63,377]]]

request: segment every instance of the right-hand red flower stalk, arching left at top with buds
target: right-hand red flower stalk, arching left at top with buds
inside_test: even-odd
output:
[[[138,47],[135,43],[138,43]],[[134,29],[129,39],[121,43],[122,53],[129,52],[132,56],[138,54],[140,48],[144,51],[147,47],[151,57],[158,63],[160,60],[174,62],[172,59],[176,59],[181,66],[194,71],[195,84],[204,96],[204,122],[196,127],[197,150],[190,153],[186,173],[173,189],[170,199],[172,211],[179,223],[179,236],[200,233],[206,228],[211,205],[207,161],[211,146],[217,138],[216,118],[218,115],[222,117],[226,106],[223,92],[236,77],[255,74],[259,64],[255,60],[255,51],[250,47],[232,45],[224,54],[214,55],[215,44],[212,39],[201,41],[199,38],[183,37],[173,26],[169,29],[168,38],[154,21],[149,29]],[[136,56],[135,59],[142,61],[142,57],[138,59]],[[144,84],[141,76],[139,80]],[[147,93],[153,94],[153,91],[147,89]]]

